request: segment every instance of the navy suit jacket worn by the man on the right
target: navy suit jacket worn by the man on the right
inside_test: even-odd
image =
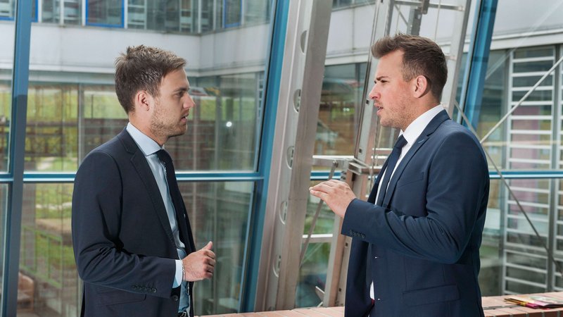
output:
[[[483,316],[479,247],[488,167],[479,141],[441,111],[399,163],[383,206],[354,199],[346,316]],[[374,304],[369,285],[374,283]]]

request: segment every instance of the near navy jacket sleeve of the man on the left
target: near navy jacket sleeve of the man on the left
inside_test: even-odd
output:
[[[168,298],[175,260],[132,254],[120,242],[123,185],[118,163],[109,154],[94,151],[81,164],[72,194],[78,274],[95,285]]]

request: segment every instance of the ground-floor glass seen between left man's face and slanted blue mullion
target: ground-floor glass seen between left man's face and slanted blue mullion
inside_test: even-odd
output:
[[[166,144],[176,169],[254,170],[262,85],[262,73],[191,80],[188,132]]]

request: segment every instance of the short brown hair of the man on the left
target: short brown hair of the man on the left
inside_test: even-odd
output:
[[[134,111],[133,98],[139,90],[158,97],[163,78],[185,65],[184,58],[170,51],[144,45],[127,47],[127,52],[115,59],[115,94],[125,113]]]

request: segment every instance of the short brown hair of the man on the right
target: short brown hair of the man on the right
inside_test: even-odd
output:
[[[423,75],[438,100],[442,97],[445,81],[448,80],[448,65],[442,49],[431,39],[399,33],[394,37],[382,37],[372,45],[372,55],[381,58],[393,51],[403,51],[403,80]]]

